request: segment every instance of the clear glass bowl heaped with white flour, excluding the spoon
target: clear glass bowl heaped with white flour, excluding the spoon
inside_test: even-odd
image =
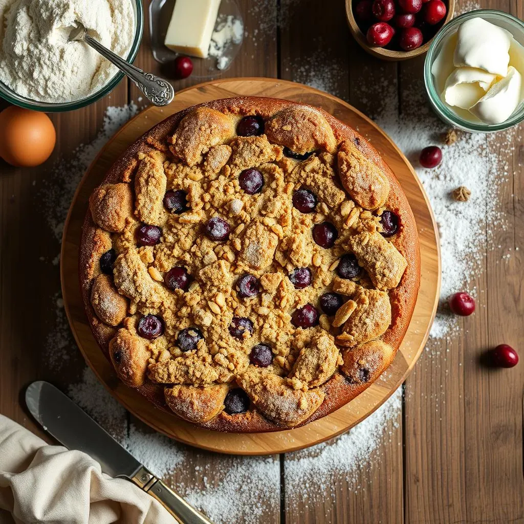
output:
[[[124,74],[83,42],[74,21],[133,62],[144,30],[141,0],[0,0],[0,96],[36,111],[71,111],[110,93]]]

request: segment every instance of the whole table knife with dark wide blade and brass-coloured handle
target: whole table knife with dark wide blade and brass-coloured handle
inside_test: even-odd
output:
[[[26,390],[26,405],[42,428],[68,449],[100,463],[111,477],[123,477],[156,498],[180,524],[212,524],[121,446],[67,395],[38,380]]]

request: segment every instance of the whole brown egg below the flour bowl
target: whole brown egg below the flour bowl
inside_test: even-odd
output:
[[[0,113],[0,157],[12,166],[45,162],[57,140],[51,119],[39,111],[10,106]]]

